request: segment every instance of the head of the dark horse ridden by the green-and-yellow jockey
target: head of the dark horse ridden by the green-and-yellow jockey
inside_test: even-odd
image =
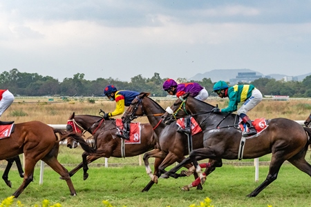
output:
[[[173,103],[171,107],[167,107],[164,115],[162,115],[162,120],[165,124],[171,124],[173,121],[176,121],[177,117],[185,117],[189,115],[191,112],[188,111],[186,107],[186,101],[189,97],[189,92],[185,93],[185,95],[180,96]]]

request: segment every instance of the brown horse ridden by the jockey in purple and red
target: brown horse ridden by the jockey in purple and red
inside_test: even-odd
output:
[[[171,166],[176,161],[180,162],[185,159],[185,155],[189,155],[189,144],[187,135],[177,132],[177,124],[166,125],[162,122],[161,116],[165,110],[153,99],[150,99],[149,93],[141,92],[135,99],[133,99],[131,106],[124,112],[124,121],[135,119],[138,116],[147,116],[149,123],[153,126],[153,130],[159,137],[160,148],[158,150],[152,150],[144,154],[144,164],[146,166],[147,174],[151,177],[149,184],[142,190],[148,191],[154,183],[158,183],[158,177],[165,171],[167,166]],[[192,148],[203,147],[203,134],[199,132],[192,137]],[[162,160],[160,166],[154,167],[155,171],[152,174],[149,166],[149,157],[156,157]],[[156,165],[156,164],[155,164]],[[192,165],[188,164],[186,168],[190,168]],[[156,169],[158,168],[158,171]],[[210,168],[214,170],[215,168]],[[180,176],[185,176],[184,172],[180,173]],[[198,175],[195,173],[195,177]],[[198,189],[202,189],[202,186],[198,186]]]

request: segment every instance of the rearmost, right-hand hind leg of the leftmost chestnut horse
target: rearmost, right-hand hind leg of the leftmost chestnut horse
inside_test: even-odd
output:
[[[77,193],[75,192],[75,188],[73,187],[73,181],[71,181],[70,179],[68,170],[59,163],[54,155],[52,157],[46,156],[42,159],[42,161],[44,161],[46,164],[48,164],[48,166],[55,170],[55,172],[57,172],[62,177],[62,179],[66,180],[66,183],[70,190],[70,195],[77,195]]]

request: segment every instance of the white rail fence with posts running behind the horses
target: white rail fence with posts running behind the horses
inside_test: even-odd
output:
[[[304,121],[296,121],[298,124],[303,125]],[[48,124],[48,126],[51,126],[53,128],[59,128],[59,129],[66,129],[66,124]],[[141,156],[141,155],[140,155]],[[139,156],[139,162],[140,166],[142,165],[141,157]],[[23,164],[25,163],[24,157],[23,157]],[[259,159],[254,159],[254,166],[255,166],[255,181],[258,182],[259,180]],[[108,167],[108,158],[105,157],[105,167]],[[39,184],[43,184],[43,177],[44,177],[44,161],[41,161],[40,164],[40,179]]]

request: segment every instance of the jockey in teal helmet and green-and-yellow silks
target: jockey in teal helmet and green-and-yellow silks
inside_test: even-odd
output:
[[[256,135],[256,129],[252,125],[252,121],[247,117],[246,113],[249,112],[249,110],[252,110],[258,103],[261,102],[263,99],[263,95],[261,92],[255,88],[253,85],[235,85],[229,88],[227,83],[225,81],[218,81],[215,83],[213,87],[213,91],[218,94],[218,97],[229,98],[229,106],[227,108],[219,109],[219,108],[213,108],[212,112],[214,113],[231,113],[237,110],[238,103],[244,101],[241,108],[238,110],[238,115],[241,117],[243,122],[247,125],[247,128],[249,129],[249,132],[242,133],[243,137],[249,137],[252,135]]]

